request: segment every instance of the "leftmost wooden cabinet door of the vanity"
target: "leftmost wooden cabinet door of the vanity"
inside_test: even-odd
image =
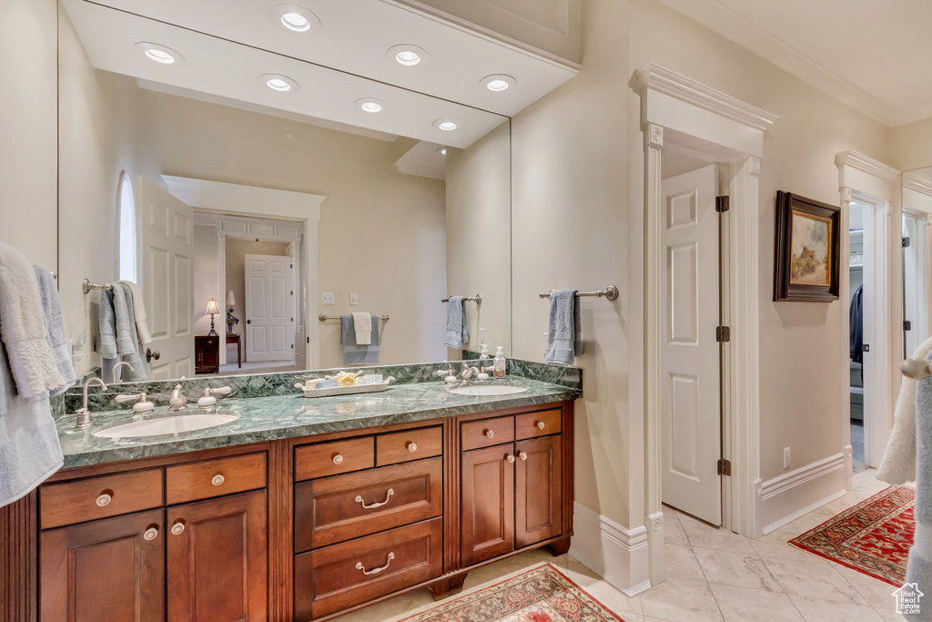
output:
[[[161,508],[41,533],[41,622],[165,620]]]

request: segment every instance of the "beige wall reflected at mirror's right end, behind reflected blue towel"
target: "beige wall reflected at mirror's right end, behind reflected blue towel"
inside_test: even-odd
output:
[[[466,350],[479,352],[479,330],[488,351],[512,352],[511,138],[502,123],[468,149],[446,150],[446,283],[456,296],[482,295],[467,302]],[[452,359],[459,351],[449,349]]]

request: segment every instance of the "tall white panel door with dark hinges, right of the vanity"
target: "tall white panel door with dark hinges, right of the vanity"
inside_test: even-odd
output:
[[[663,182],[663,502],[721,524],[719,214],[715,165]]]

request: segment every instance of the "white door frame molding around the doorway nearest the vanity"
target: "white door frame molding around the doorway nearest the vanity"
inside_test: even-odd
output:
[[[723,457],[732,477],[723,476],[723,525],[753,537],[756,496],[761,493],[759,459],[759,192],[763,132],[776,116],[649,63],[635,72],[644,132],[644,520],[649,526],[650,581],[664,580],[664,515],[661,505],[662,442],[660,282],[661,156],[675,148],[727,166],[731,210],[723,291],[732,325],[726,349],[722,406]],[[739,260],[740,258],[740,260]],[[727,287],[727,290],[725,289]]]

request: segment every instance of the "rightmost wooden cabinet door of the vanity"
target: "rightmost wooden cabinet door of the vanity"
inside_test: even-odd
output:
[[[514,444],[514,547],[563,532],[560,435]]]

